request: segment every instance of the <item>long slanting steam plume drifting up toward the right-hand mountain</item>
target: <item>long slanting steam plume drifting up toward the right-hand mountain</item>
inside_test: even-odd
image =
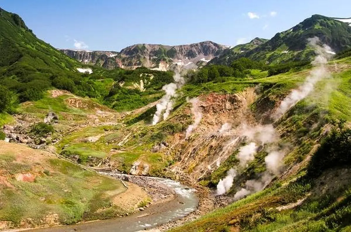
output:
[[[300,85],[297,89],[291,91],[291,93],[280,103],[280,106],[273,115],[274,119],[279,119],[282,115],[294,106],[298,101],[307,97],[312,92],[314,86],[319,80],[329,76],[329,72],[326,68],[326,63],[335,52],[324,44],[320,45],[319,38],[310,38],[309,44],[315,49],[317,57],[312,61],[312,65],[315,68],[310,72],[310,75],[306,78],[305,82]]]

